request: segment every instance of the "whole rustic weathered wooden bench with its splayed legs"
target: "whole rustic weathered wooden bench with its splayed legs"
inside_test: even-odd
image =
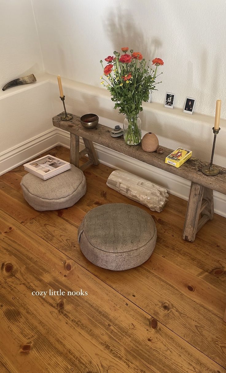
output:
[[[60,119],[62,113],[53,117],[53,125],[70,132],[70,162],[79,167],[79,158],[88,154],[89,160],[80,168],[84,170],[91,164],[98,164],[97,154],[92,142],[126,154],[154,167],[158,167],[174,175],[191,181],[191,191],[183,228],[183,239],[194,241],[196,233],[208,221],[213,219],[213,190],[226,194],[226,168],[217,166],[220,170],[216,176],[206,176],[201,169],[208,163],[200,159],[190,158],[181,167],[176,168],[165,163],[165,158],[171,149],[163,148],[163,153],[147,153],[141,145],[129,146],[122,137],[110,136],[111,128],[98,124],[96,128],[86,129],[80,123],[80,117],[73,115],[68,122]],[[79,137],[83,138],[85,149],[79,151]]]

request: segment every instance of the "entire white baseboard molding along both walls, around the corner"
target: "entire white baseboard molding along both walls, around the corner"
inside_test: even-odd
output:
[[[68,132],[54,127],[14,148],[0,153],[0,175],[20,166],[36,156],[38,157],[41,153],[44,153],[44,151],[57,145],[69,148],[70,135]],[[81,149],[84,148],[82,139],[80,139],[80,145]],[[115,169],[134,173],[155,184],[163,186],[169,193],[183,200],[188,200],[191,185],[188,180],[125,156],[125,154],[118,153],[103,145],[94,144],[94,147],[101,163]],[[226,217],[226,195],[214,192],[214,211]]]

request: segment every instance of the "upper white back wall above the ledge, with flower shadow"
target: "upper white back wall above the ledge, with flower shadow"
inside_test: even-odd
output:
[[[222,98],[226,118],[225,0],[32,1],[46,72],[99,86],[100,59],[128,46],[164,60],[153,101],[170,91],[213,116]]]

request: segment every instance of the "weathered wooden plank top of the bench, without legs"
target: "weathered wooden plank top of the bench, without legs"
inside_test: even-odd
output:
[[[165,163],[166,157],[169,156],[169,154],[173,151],[171,149],[161,147],[163,148],[162,154],[157,152],[147,153],[142,150],[141,144],[129,146],[126,145],[123,137],[111,137],[111,128],[107,126],[99,123],[96,128],[87,129],[81,125],[79,116],[73,115],[71,120],[64,122],[60,119],[62,114],[63,113],[60,113],[53,117],[53,125],[55,127],[64,129],[72,134],[91,140],[96,144],[106,146],[107,148],[118,151],[119,153],[123,153],[126,156],[138,159],[141,162],[151,164],[151,166],[158,167],[164,171],[173,173],[174,175],[181,176],[184,179],[226,194],[226,168],[224,167],[217,166],[220,170],[218,175],[206,176],[202,173],[201,169],[204,166],[208,166],[209,163],[191,157],[184,164],[182,164],[181,167],[176,168]]]

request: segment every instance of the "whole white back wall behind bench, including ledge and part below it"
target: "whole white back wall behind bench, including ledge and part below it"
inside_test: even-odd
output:
[[[100,86],[100,59],[121,46],[133,47],[146,58],[164,60],[159,69],[163,83],[152,103],[143,105],[144,132],[155,132],[163,146],[191,148],[195,157],[208,161],[216,100],[222,98],[214,162],[225,166],[225,1],[216,0],[214,6],[212,0],[32,1],[45,69],[72,81],[66,104],[73,113],[93,111],[105,123],[123,122],[109,91]],[[75,81],[87,89],[75,90]],[[176,95],[173,110],[164,108],[166,91]],[[54,92],[57,101],[57,86]],[[182,109],[187,95],[196,98],[192,116]]]

